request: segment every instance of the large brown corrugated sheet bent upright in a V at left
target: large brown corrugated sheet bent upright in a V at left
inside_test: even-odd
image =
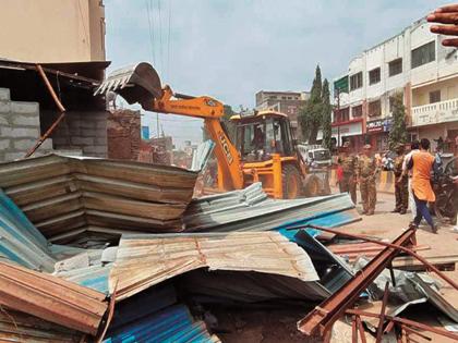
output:
[[[48,155],[0,164],[0,187],[46,237],[85,231],[180,231],[197,173],[167,166]]]

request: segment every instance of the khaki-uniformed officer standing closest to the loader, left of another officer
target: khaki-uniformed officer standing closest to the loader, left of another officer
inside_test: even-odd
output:
[[[342,169],[342,177],[339,181],[340,193],[349,193],[351,200],[357,205],[357,168],[358,158],[350,154],[350,143],[343,143],[341,147],[341,156],[339,157],[339,166]]]

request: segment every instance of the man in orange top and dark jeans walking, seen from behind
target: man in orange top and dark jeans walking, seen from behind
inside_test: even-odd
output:
[[[422,218],[430,224],[433,233],[437,233],[437,226],[431,218],[427,203],[435,201],[433,188],[431,186],[431,172],[434,168],[435,158],[427,150],[430,149],[430,140],[426,138],[420,142],[420,151],[412,155],[409,161],[409,169],[412,169],[412,192],[417,205],[417,216],[412,225],[420,224]]]

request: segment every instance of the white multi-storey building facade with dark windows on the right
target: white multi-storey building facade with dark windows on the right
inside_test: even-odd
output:
[[[388,147],[393,97],[403,95],[410,139],[458,135],[458,53],[442,46],[424,20],[363,51],[335,79],[333,136],[355,149]]]

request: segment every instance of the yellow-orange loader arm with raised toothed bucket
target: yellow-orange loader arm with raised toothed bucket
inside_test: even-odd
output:
[[[239,152],[221,126],[221,102],[205,96],[173,94],[169,86],[161,88],[159,76],[149,63],[114,71],[95,94],[106,91],[121,95],[129,103],[138,102],[147,111],[202,118],[215,142],[215,155],[222,175],[219,186],[225,191],[243,188]]]

